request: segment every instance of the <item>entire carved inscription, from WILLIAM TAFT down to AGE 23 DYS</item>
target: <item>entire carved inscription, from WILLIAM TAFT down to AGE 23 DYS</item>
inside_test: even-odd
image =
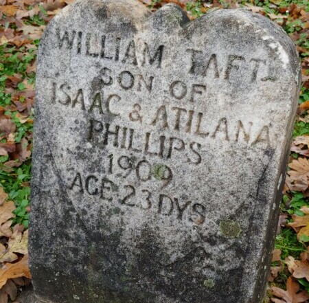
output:
[[[181,192],[174,192],[177,176],[173,161],[179,159],[187,166],[205,168],[203,157],[210,141],[239,144],[240,148],[271,148],[270,125],[235,120],[228,115],[213,121],[201,106],[210,98],[209,77],[229,85],[231,77],[245,68],[252,85],[275,80],[261,73],[268,64],[266,60],[241,55],[218,60],[217,54],[185,49],[187,74],[198,75],[201,82],[172,79],[161,87],[160,72],[151,69],[145,74],[134,67],[164,69],[168,56],[165,45],[76,31],[58,30],[56,35],[59,49],[106,62],[100,76],[89,79],[96,83],[95,89],[91,85],[76,88],[73,80],[51,83],[50,102],[84,113],[85,142],[106,150],[101,167],[104,174],[83,175],[70,168],[69,190],[111,205],[201,225],[205,223],[205,201],[201,197],[183,198]],[[107,64],[112,61],[123,69]],[[152,100],[153,93],[157,93],[154,87],[161,87],[161,101],[147,105],[143,100]]]

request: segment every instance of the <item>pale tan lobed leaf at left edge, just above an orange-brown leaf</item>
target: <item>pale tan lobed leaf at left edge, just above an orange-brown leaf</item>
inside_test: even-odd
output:
[[[14,253],[27,254],[28,231],[23,234],[17,229],[8,242],[8,248],[3,250],[0,245],[0,262],[14,262],[19,257]],[[2,245],[3,246],[3,245]],[[5,247],[4,247],[5,248]]]

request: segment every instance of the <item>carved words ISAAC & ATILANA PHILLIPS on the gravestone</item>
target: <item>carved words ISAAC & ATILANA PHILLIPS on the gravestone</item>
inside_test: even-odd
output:
[[[133,77],[134,78],[134,77]],[[140,79],[144,79],[139,75]],[[135,79],[135,78],[134,78]],[[153,80],[153,79],[152,79]],[[133,80],[132,82],[135,82]],[[178,83],[179,81],[177,81]],[[140,82],[141,83],[141,82]],[[133,142],[135,138],[135,125],[145,125],[154,130],[160,129],[161,131],[174,132],[175,136],[159,136],[159,145],[155,148],[156,151],[152,152],[152,155],[159,157],[172,156],[172,151],[176,150],[192,150],[195,159],[189,159],[192,164],[201,163],[201,155],[198,150],[201,149],[201,139],[224,139],[228,142],[242,142],[249,146],[256,144],[263,144],[271,146],[269,126],[262,125],[253,127],[253,122],[244,123],[241,120],[231,121],[229,117],[222,117],[216,124],[208,126],[207,113],[194,109],[194,104],[190,106],[191,102],[188,102],[186,108],[181,106],[172,106],[162,104],[160,106],[154,106],[152,112],[143,112],[143,106],[141,104],[133,104],[133,108],[128,111],[127,101],[123,100],[121,96],[115,93],[106,94],[104,89],[86,96],[83,89],[73,91],[68,83],[58,85],[57,83],[52,84],[53,87],[53,98],[51,102],[56,104],[62,104],[64,106],[70,106],[71,109],[78,109],[80,111],[87,111],[89,114],[99,113],[106,116],[120,116],[119,108],[121,106],[126,107],[126,114],[122,115],[122,118],[126,121],[132,122],[132,128],[122,127],[121,125],[111,126],[110,124],[96,120],[93,118],[89,119],[88,128],[88,140],[91,141],[95,137],[102,137],[104,133],[104,144],[108,144],[110,137],[113,138],[113,145],[115,147],[129,148],[135,150],[137,153],[150,153],[151,138],[153,137],[151,132],[144,133],[144,140],[139,147],[133,148]],[[146,85],[144,86],[146,87]],[[170,88],[174,89],[175,82],[172,82]],[[185,84],[183,83],[183,87]],[[133,89],[131,87],[130,89]],[[126,88],[124,89],[126,90]],[[147,89],[146,89],[147,90]],[[185,89],[187,91],[187,89]],[[202,85],[192,85],[192,93],[190,94],[190,100],[194,103],[196,94],[203,94]],[[171,93],[172,97],[174,92]],[[181,96],[178,96],[180,98]],[[182,93],[181,98],[185,97]],[[148,118],[148,119],[146,119]],[[252,131],[252,128],[255,130]],[[111,131],[113,129],[113,131]],[[183,134],[192,135],[192,141],[185,142],[181,137],[176,136]],[[169,144],[168,144],[169,142]],[[165,152],[168,150],[168,152]]]

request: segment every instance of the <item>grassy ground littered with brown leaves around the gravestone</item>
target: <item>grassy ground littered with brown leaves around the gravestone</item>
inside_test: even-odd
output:
[[[244,8],[275,21],[294,41],[303,82],[264,303],[309,303],[308,0],[139,1],[152,11],[176,3],[190,19],[219,8]],[[31,283],[27,228],[36,54],[47,23],[71,2],[0,0],[0,303],[17,303]]]

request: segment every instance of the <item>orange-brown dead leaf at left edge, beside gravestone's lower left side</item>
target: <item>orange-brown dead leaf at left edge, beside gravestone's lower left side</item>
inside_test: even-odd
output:
[[[31,279],[29,266],[28,266],[28,254],[23,256],[19,262],[5,263],[0,268],[0,289],[5,285],[8,279],[26,277]]]

